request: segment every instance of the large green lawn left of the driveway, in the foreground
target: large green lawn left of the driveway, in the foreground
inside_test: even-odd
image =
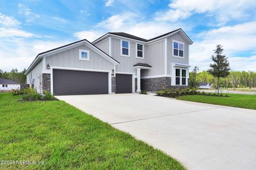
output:
[[[0,94],[0,160],[44,164],[0,164],[0,169],[185,169],[162,151],[64,101],[19,98]]]

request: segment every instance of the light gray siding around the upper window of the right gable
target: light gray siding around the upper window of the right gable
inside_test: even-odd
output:
[[[172,40],[184,42],[184,58],[177,58],[173,57],[173,44]],[[183,38],[183,36],[180,35],[180,33],[175,33],[174,35],[167,37],[167,74],[171,74],[171,62],[180,62],[180,63],[185,63],[189,64],[189,44],[188,42]]]

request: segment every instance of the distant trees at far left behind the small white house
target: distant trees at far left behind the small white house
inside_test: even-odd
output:
[[[0,69],[0,78],[13,80],[14,82],[18,82],[20,84],[26,84],[27,76],[25,75],[26,69],[23,71],[18,71],[17,69],[11,69],[10,72],[3,72]]]

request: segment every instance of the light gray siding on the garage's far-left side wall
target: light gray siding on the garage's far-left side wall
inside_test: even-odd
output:
[[[42,70],[43,70],[43,61],[41,60],[38,65],[34,67],[27,75],[27,84],[30,82],[30,74],[32,73],[32,79],[34,79],[34,88],[39,93],[42,92]]]

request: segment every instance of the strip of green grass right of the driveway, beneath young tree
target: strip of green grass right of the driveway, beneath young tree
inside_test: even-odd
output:
[[[224,95],[228,95],[229,97],[191,95],[191,96],[179,96],[176,99],[196,101],[200,103],[226,105],[230,107],[256,109],[256,95],[241,95],[241,94],[224,94]]]

